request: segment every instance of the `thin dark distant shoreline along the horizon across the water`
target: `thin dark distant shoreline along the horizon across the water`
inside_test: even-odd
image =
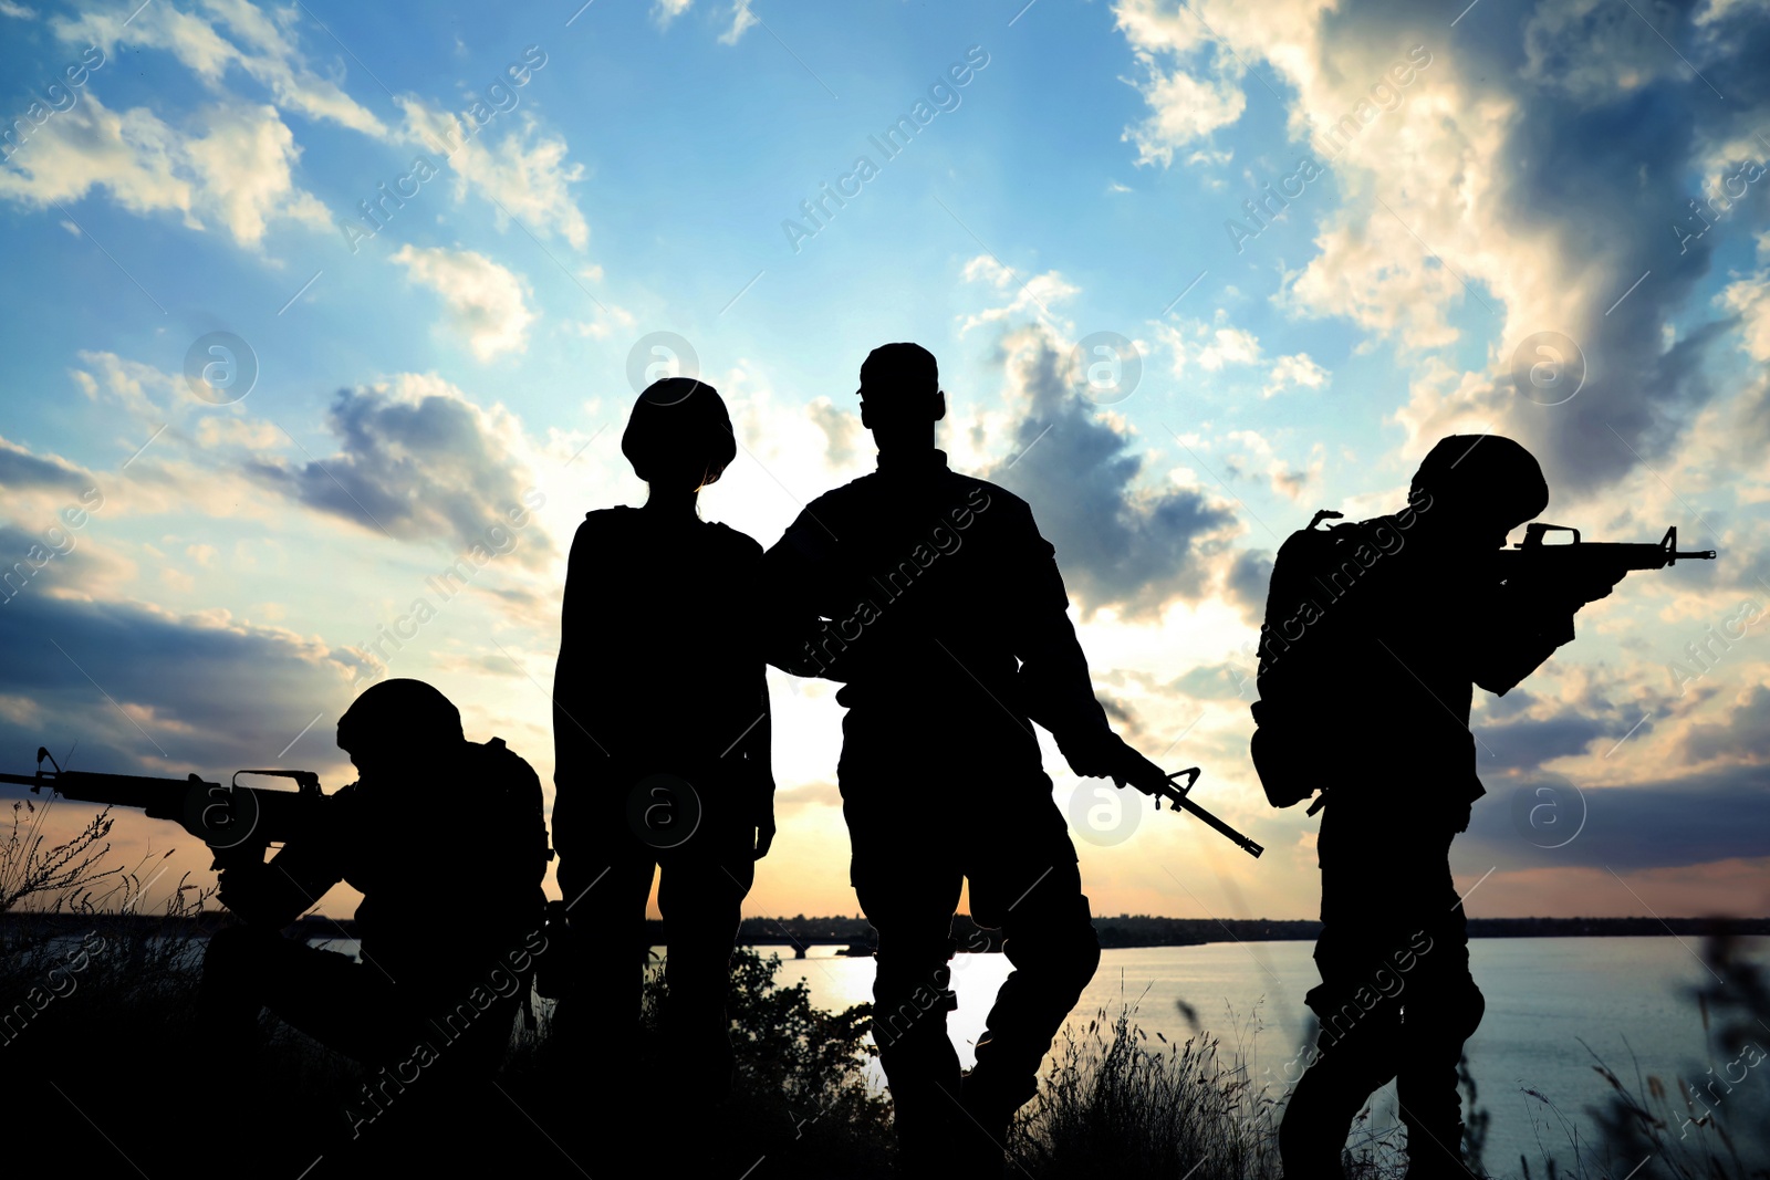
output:
[[[168,927],[205,936],[230,925],[225,913],[205,913],[198,918],[165,918],[152,915],[71,915],[71,913],[5,913],[0,923],[41,932],[83,932],[94,925],[126,923],[133,927]],[[304,939],[356,938],[350,918],[301,918],[290,927]],[[1315,941],[1320,922],[1303,918],[1152,918],[1152,916],[1099,916],[1094,931],[1101,946],[1127,950],[1140,946],[1202,946],[1205,943],[1273,943]],[[1469,938],[1648,938],[1678,936],[1706,938],[1728,932],[1736,936],[1770,936],[1770,918],[1469,918]],[[878,934],[866,918],[745,918],[738,943],[747,946],[873,946]],[[1002,948],[1002,931],[986,931],[972,923],[968,915],[952,922],[958,950],[995,952]],[[651,946],[669,943],[667,923],[646,922],[646,939]]]

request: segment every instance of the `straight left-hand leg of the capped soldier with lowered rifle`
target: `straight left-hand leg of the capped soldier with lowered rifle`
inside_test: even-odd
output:
[[[844,785],[844,791],[848,787]],[[954,1008],[952,913],[959,906],[959,865],[942,854],[938,837],[896,833],[890,808],[874,816],[844,803],[853,844],[850,881],[860,909],[878,931],[873,978],[873,1040],[890,1084],[903,1175],[945,1175],[959,1115],[959,1054],[947,1038]]]

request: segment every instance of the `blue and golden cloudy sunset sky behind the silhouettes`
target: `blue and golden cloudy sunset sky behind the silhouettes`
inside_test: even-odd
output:
[[[1586,540],[1720,552],[1476,692],[1469,913],[1770,911],[1763,0],[138,4],[0,0],[7,770],[335,789],[338,715],[416,676],[550,803],[637,389],[722,393],[701,513],[770,545],[871,469],[860,361],[915,340],[1119,731],[1267,849],[1041,734],[1096,913],[1315,916],[1317,821],[1246,757],[1271,557],[1453,432],[1529,446]],[[857,913],[841,708],[770,686],[745,913]],[[1356,768],[1382,701],[1335,708]],[[173,824],[112,839],[173,849],[150,902],[211,879]]]

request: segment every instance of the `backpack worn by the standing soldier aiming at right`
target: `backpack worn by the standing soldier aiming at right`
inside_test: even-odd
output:
[[[1294,807],[1326,791],[1322,748],[1333,741],[1324,704],[1335,692],[1335,600],[1347,593],[1368,563],[1352,557],[1368,540],[1366,522],[1319,529],[1342,513],[1317,511],[1292,533],[1273,559],[1260,623],[1260,663],[1255,683],[1253,738],[1248,754],[1273,807]],[[1370,550],[1375,552],[1375,550]],[[1313,816],[1326,794],[1310,805]]]

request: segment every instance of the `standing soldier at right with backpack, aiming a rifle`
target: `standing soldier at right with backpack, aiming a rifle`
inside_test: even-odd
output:
[[[1506,533],[1547,504],[1522,446],[1450,435],[1421,462],[1402,513],[1333,529],[1349,563],[1361,550],[1358,563],[1303,571],[1320,586],[1319,612],[1285,637],[1310,647],[1306,658],[1274,635],[1267,603],[1258,708],[1297,708],[1319,724],[1336,720],[1335,702],[1366,709],[1333,734],[1338,748],[1304,743],[1322,764],[1349,768],[1322,794],[1322,982],[1306,996],[1320,1038],[1280,1127],[1287,1176],[1342,1176],[1352,1118],[1391,1077],[1409,1180],[1469,1176],[1457,1063],[1485,1003],[1469,975],[1450,846],[1485,793],[1471,685],[1504,695],[1574,639],[1574,614],[1623,575],[1501,586],[1494,556]],[[1276,570],[1304,536],[1280,548],[1274,596]]]

